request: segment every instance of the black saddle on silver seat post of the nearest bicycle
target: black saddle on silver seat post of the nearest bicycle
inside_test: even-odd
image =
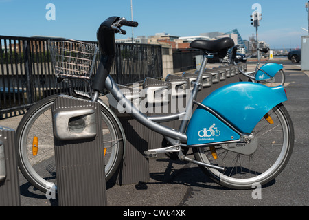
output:
[[[230,37],[208,41],[208,40],[195,40],[190,43],[191,48],[203,50],[210,54],[218,53],[220,58],[227,55],[227,50],[234,46],[234,41]]]

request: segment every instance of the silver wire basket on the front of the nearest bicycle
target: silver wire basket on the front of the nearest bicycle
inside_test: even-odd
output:
[[[50,39],[48,45],[58,78],[90,80],[98,54],[97,44],[71,39]]]

